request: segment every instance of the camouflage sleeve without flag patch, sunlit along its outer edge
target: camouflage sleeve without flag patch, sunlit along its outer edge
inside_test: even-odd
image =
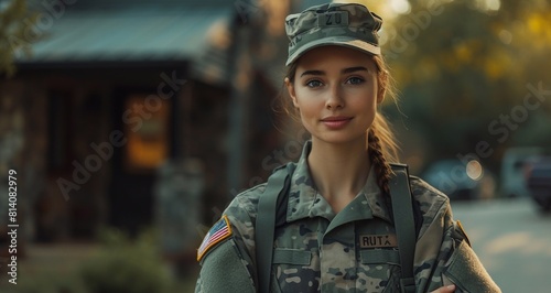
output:
[[[471,248],[461,223],[453,219],[447,197],[423,216],[414,267],[418,292],[452,283],[458,293],[501,292]]]

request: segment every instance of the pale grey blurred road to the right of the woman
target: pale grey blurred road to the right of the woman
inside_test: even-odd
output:
[[[530,198],[455,202],[452,209],[503,292],[551,292],[551,215]]]

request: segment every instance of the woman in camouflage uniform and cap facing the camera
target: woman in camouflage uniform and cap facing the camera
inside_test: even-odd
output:
[[[285,20],[284,84],[312,140],[294,171],[288,171],[287,209],[273,228],[271,292],[406,287],[389,204],[392,171],[387,162],[396,159],[396,144],[377,110],[390,90],[378,46],[381,23],[364,6],[342,3]],[[266,268],[258,268],[255,240],[263,231],[255,226],[270,182],[237,195],[205,237],[196,292],[256,292],[266,285],[259,281]],[[420,215],[413,290],[499,292],[452,219],[447,197],[417,177],[410,186]]]

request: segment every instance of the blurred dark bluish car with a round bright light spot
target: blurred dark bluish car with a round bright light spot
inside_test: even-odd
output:
[[[422,178],[452,200],[489,198],[495,193],[495,176],[473,160],[442,160],[431,164]]]

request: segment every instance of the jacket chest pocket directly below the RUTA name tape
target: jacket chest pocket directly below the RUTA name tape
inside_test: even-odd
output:
[[[359,251],[358,278],[365,279],[367,292],[400,292],[400,253],[393,249]]]

